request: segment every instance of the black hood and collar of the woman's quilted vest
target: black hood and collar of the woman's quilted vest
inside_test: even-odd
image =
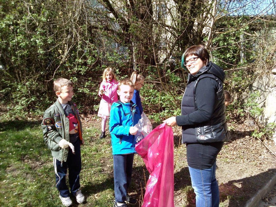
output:
[[[191,81],[195,80],[200,75],[203,75],[203,74],[213,74],[213,75],[217,76],[222,82],[224,82],[224,79],[225,79],[225,72],[218,65],[216,65],[215,63],[210,61],[206,66],[202,67],[197,72],[196,75],[189,74],[188,75],[188,82],[189,82],[190,79],[191,79]]]

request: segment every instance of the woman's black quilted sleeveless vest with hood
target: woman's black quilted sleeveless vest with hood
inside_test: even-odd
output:
[[[201,68],[196,75],[189,74],[181,103],[182,115],[187,115],[197,110],[197,101],[207,101],[196,100],[195,96],[197,84],[203,78],[211,78],[217,82],[217,100],[212,118],[209,121],[197,125],[182,126],[182,143],[226,142],[231,139],[225,117],[224,76],[224,71],[212,62]]]

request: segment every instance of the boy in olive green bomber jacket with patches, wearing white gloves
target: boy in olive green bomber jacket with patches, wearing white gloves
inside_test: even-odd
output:
[[[54,91],[58,99],[44,112],[41,126],[44,142],[51,150],[54,159],[59,198],[63,205],[70,206],[72,201],[66,185],[67,168],[71,194],[76,197],[78,203],[85,201],[79,182],[82,167],[80,145],[84,144],[82,124],[77,105],[71,101],[74,95],[73,83],[64,78],[58,78],[54,81]]]

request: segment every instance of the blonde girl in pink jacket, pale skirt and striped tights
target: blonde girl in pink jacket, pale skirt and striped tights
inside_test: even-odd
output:
[[[113,102],[118,101],[117,86],[118,81],[114,71],[111,67],[105,68],[98,93],[99,96],[102,97],[98,111],[98,116],[102,117],[102,133],[100,139],[105,137],[105,126],[109,117],[111,105]]]

